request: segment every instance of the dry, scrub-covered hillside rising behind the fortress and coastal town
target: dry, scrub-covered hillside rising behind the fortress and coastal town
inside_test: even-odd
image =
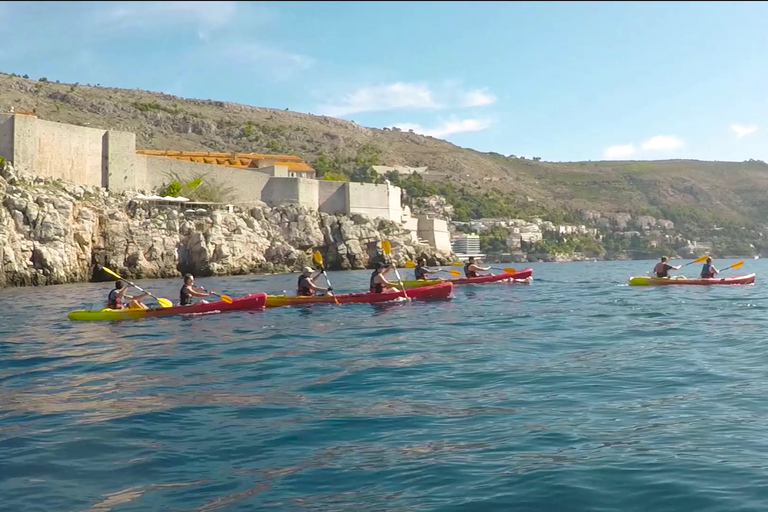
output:
[[[0,111],[10,107],[131,131],[141,149],[290,153],[329,169],[426,165],[443,173],[428,182],[477,197],[502,193],[523,209],[649,214],[694,231],[768,222],[768,165],[760,161],[534,162],[325,116],[0,75]]]

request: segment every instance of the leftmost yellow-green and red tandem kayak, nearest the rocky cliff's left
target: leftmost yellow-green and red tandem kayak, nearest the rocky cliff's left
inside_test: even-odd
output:
[[[190,306],[173,306],[157,309],[100,309],[78,310],[69,314],[70,320],[134,320],[156,316],[193,315],[202,313],[220,313],[222,311],[245,311],[264,309],[267,302],[266,293],[247,295],[239,299],[232,299],[232,304],[222,300],[215,302],[196,302]]]

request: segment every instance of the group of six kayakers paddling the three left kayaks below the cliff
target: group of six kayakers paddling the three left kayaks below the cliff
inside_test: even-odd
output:
[[[384,293],[384,292],[398,292],[401,291],[397,283],[391,282],[386,278],[386,274],[392,270],[394,266],[392,263],[379,262],[371,274],[369,283],[369,291],[371,293]],[[464,265],[465,277],[479,277],[478,272],[486,272],[491,270],[490,267],[481,267],[477,264],[474,257],[470,257],[467,263]],[[443,272],[443,269],[430,269],[427,266],[427,260],[423,257],[416,260],[416,267],[414,268],[414,276],[417,280],[429,279],[429,274],[435,274]],[[314,270],[312,267],[304,267],[301,275],[299,275],[298,282],[296,283],[296,295],[299,297],[311,297],[318,294],[318,292],[324,295],[333,295],[333,288],[330,286],[323,287],[318,285],[315,280],[324,273],[324,269]],[[192,274],[184,275],[184,284],[179,290],[179,305],[188,306],[193,303],[193,299],[196,297],[208,297],[212,295],[204,288],[196,288],[194,286],[195,277]],[[139,295],[128,295],[129,287],[125,281],[118,279],[115,282],[115,288],[109,292],[107,297],[107,307],[110,309],[147,309],[146,304],[142,301],[150,294],[142,292]],[[202,302],[206,302],[203,300]]]

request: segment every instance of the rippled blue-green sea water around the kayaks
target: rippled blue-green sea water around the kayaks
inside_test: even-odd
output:
[[[536,264],[449,302],[122,323],[66,317],[108,283],[0,290],[0,510],[765,510],[768,262],[745,263],[755,286]]]

